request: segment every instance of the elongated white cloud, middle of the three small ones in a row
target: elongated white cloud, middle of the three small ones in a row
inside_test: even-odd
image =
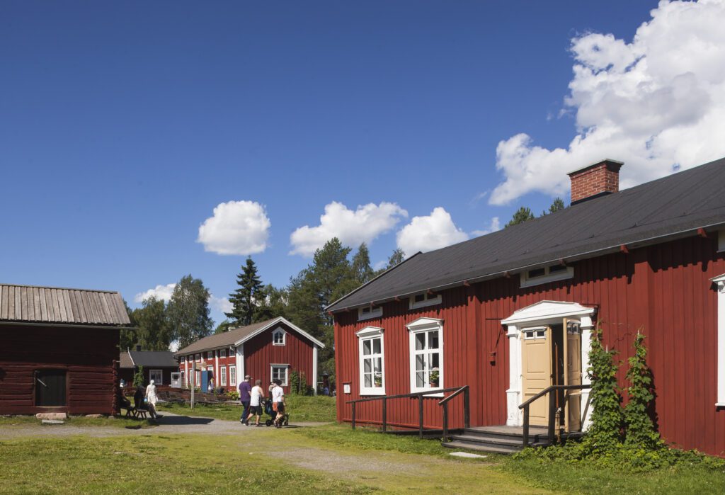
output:
[[[334,237],[350,247],[357,247],[363,242],[370,244],[382,233],[392,230],[402,217],[407,217],[407,212],[395,203],[368,203],[353,211],[333,201],[326,205],[320,216],[320,225],[305,225],[291,233],[290,254],[312,256],[316,249]]]

